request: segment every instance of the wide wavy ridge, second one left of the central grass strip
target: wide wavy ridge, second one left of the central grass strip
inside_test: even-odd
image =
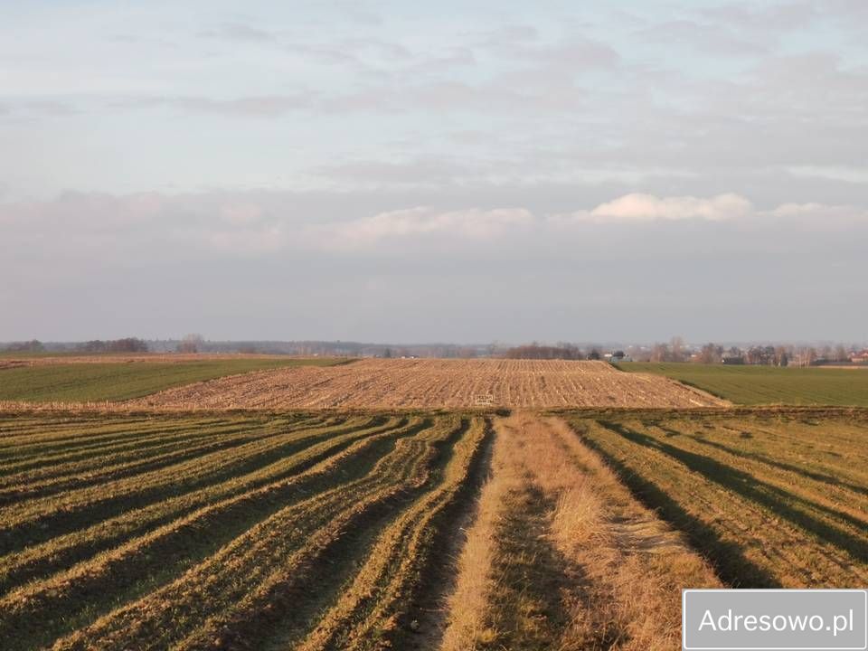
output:
[[[210,630],[221,613],[265,608],[364,514],[424,486],[434,444],[454,429],[454,422],[439,422],[400,439],[363,477],[279,510],[179,579],[61,639],[56,648],[183,647],[185,637]]]

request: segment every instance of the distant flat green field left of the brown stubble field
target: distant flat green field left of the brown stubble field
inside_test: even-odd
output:
[[[52,363],[0,369],[0,400],[122,401],[224,375],[286,366],[330,366],[335,358],[248,358],[195,362]]]

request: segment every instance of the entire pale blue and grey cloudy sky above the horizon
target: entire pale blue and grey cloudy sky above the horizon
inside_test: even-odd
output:
[[[0,341],[868,341],[866,25],[0,0]]]

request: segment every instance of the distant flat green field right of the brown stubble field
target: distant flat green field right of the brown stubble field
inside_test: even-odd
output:
[[[621,363],[633,373],[656,373],[737,404],[868,407],[868,369]]]

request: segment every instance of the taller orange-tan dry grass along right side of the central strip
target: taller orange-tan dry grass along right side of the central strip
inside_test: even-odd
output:
[[[577,573],[561,648],[670,649],[684,587],[719,587],[711,567],[629,495],[562,420],[524,425],[537,481],[559,495],[552,541]],[[578,572],[576,572],[578,570]]]

